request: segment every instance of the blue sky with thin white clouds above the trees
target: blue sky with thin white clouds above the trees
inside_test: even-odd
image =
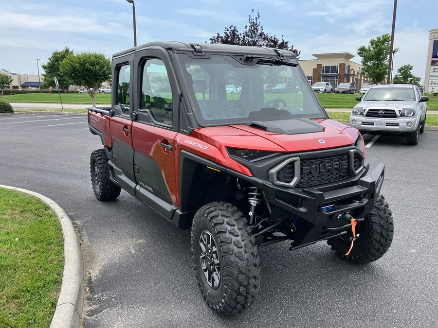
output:
[[[393,0],[135,0],[137,44],[150,41],[203,43],[225,26],[239,29],[251,9],[260,13],[265,32],[284,35],[301,51],[350,52],[371,38],[391,33]],[[115,52],[133,46],[132,5],[126,0],[0,0],[0,68],[37,73],[55,50]],[[404,64],[424,81],[428,31],[438,28],[430,1],[399,0],[394,73]],[[40,68],[41,71],[41,68]]]

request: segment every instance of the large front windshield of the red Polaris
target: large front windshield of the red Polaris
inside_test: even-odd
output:
[[[327,118],[299,67],[245,65],[231,55],[178,58],[200,125]]]

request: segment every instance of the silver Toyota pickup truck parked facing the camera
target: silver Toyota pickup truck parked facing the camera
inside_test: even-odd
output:
[[[350,125],[363,134],[398,134],[407,137],[409,145],[418,144],[426,123],[426,102],[416,85],[393,84],[373,86],[362,96],[350,115]]]

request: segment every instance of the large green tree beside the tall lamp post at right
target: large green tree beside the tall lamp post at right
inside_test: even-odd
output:
[[[367,47],[360,46],[357,54],[362,58],[363,72],[374,84],[380,83],[388,72],[391,35],[388,33],[371,39]],[[398,52],[399,49],[394,49]]]

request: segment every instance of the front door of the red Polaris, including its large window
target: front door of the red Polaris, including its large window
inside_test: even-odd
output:
[[[176,143],[178,92],[169,55],[135,53],[136,97],[132,124],[137,198],[171,219],[178,206]]]

